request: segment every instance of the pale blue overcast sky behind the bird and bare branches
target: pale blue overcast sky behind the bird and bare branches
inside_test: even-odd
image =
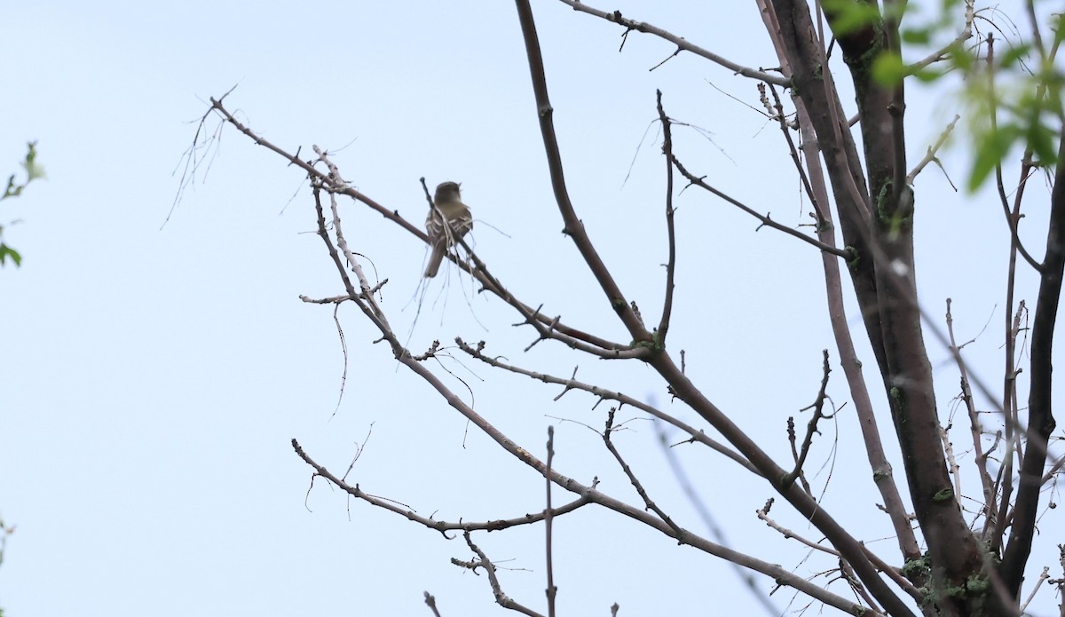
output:
[[[743,64],[775,64],[753,4],[723,13],[671,2],[653,14],[642,4],[603,7]],[[534,5],[574,202],[644,315],[657,320],[666,259],[655,88],[672,116],[711,133],[708,141],[677,129],[689,167],[774,218],[807,221],[775,126],[708,83],[755,104],[753,82],[686,55],[649,71],[672,48],[634,34],[619,54],[617,27],[558,2]],[[298,295],[341,287],[311,233],[301,174],[227,128],[210,172],[201,167],[171,206],[204,101],[239,83],[227,103],[249,126],[292,151],[302,147],[305,158],[312,144],[344,148],[334,155],[344,176],[413,221],[425,210],[419,177],[463,182],[478,255],[511,290],[571,325],[624,338],[559,233],[513,5],[55,1],[13,4],[4,21],[0,171],[14,172],[24,143],[37,140],[49,176],[0,204],[0,223],[22,220],[5,240],[24,258],[20,269],[0,269],[0,513],[17,525],[0,567],[6,615],[428,615],[423,590],[444,615],[501,614],[484,577],[448,563],[470,557],[461,540],[349,503],[321,481],[308,492],[311,470],[291,438],[343,472],[372,431],[349,476],[368,492],[450,520],[543,507],[542,480],[397,370],[351,307],[341,311],[349,372],[333,413],[343,356],[331,309]],[[953,103],[916,88],[912,97],[916,161]],[[945,156],[955,182],[965,158]],[[1001,214],[993,201],[954,194],[931,168],[916,189],[921,297],[934,318],[953,297],[966,339],[992,319],[968,350],[997,387]],[[1046,191],[1032,193],[1037,221]],[[756,233],[753,220],[695,191],[678,204],[671,345],[687,351],[689,374],[707,395],[784,461],[785,419],[813,401],[820,351],[832,346],[820,257],[783,234]],[[390,279],[382,306],[408,332],[424,247],[362,207],[343,212],[354,248]],[[642,364],[550,343],[523,354],[531,334],[510,327],[518,315],[471,294],[454,272],[450,281],[442,295],[440,281],[427,294],[415,352],[433,339],[485,339],[489,352],[524,367],[569,376],[579,366],[586,380],[667,400]],[[1031,301],[1032,289],[1021,295]],[[943,348],[930,353],[946,418],[956,372]],[[555,424],[563,473],[585,483],[597,475],[605,491],[638,503],[597,437],[557,420],[600,428],[605,408],[592,410],[594,400],[571,392],[553,402],[558,389],[470,361],[437,369],[462,395],[470,393],[458,378],[469,384],[477,409],[532,452],[542,454]],[[840,373],[831,390],[837,403],[848,399]],[[668,408],[691,419],[679,405]],[[702,531],[650,424],[632,426],[618,436],[629,462],[681,524]],[[873,505],[853,416],[841,413],[837,426],[826,507],[865,539],[884,538],[889,525]],[[833,435],[826,426],[815,467],[832,456]],[[894,455],[894,437],[885,442]],[[692,446],[682,455],[735,548],[804,575],[834,567],[804,562],[804,550],[755,519],[768,486],[720,456]],[[817,473],[821,486],[829,474]],[[817,539],[785,508],[774,513]],[[726,564],[636,523],[586,509],[556,525],[567,614],[605,615],[613,602],[622,615],[755,610]],[[1055,539],[1043,541],[1051,550],[1033,566],[1054,563],[1062,530],[1060,517],[1046,519],[1042,531]],[[541,536],[536,526],[477,537],[490,556],[511,559],[502,564],[514,568],[502,574],[506,591],[538,608]],[[892,540],[871,546],[898,561]],[[832,588],[848,594],[840,583]],[[782,590],[772,601],[783,610],[790,597]],[[1041,600],[1049,613],[1052,598],[1044,591]]]

